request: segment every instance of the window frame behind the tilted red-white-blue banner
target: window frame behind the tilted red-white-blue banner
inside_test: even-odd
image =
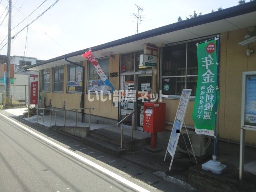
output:
[[[102,58],[97,58],[96,60],[98,60],[99,64],[100,64],[100,60],[108,60],[108,74],[106,74],[105,71],[104,71],[104,73],[105,73],[105,75],[107,76],[107,78],[109,79],[109,74],[110,74],[110,68],[109,68],[109,65],[110,65],[110,56],[106,56],[106,57],[102,57]],[[89,81],[91,81],[91,80],[90,80],[90,67],[93,67],[93,68],[94,68],[94,66],[93,66],[89,61],[87,61],[87,86],[86,86],[86,94],[88,94],[88,92],[89,92],[89,90],[88,90],[88,88],[89,88]],[[100,67],[101,67],[101,66],[100,66]],[[94,68],[94,70],[96,70],[96,69]],[[97,75],[98,75],[98,74],[97,74]],[[97,79],[92,79],[92,80],[101,80],[99,75],[98,75],[97,77],[98,77]],[[91,91],[91,90],[90,90],[90,94],[96,94],[96,91]],[[101,94],[101,92],[98,91],[98,94]],[[108,95],[108,92],[104,92],[104,91],[103,91],[102,94],[103,94],[103,95]]]

